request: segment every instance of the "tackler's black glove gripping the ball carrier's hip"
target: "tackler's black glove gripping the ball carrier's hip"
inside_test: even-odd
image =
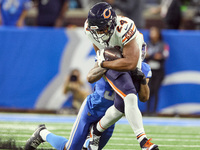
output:
[[[131,71],[131,76],[133,80],[139,81],[140,84],[145,85],[147,83],[144,73],[139,68],[136,68],[134,71]]]

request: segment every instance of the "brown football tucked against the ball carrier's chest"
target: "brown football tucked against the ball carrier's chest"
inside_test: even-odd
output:
[[[106,61],[112,61],[122,57],[123,57],[122,52],[115,47],[106,47],[104,49],[104,58]]]

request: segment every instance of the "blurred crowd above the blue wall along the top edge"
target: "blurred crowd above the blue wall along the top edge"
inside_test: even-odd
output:
[[[69,10],[88,10],[97,2],[106,1],[116,10],[117,14],[134,20],[139,29],[147,28],[144,12],[159,15],[167,29],[180,29],[187,14],[192,8],[191,21],[195,29],[200,27],[200,0],[0,0],[0,24],[24,26],[32,25],[26,20],[29,10],[37,12],[34,25],[37,26],[68,26],[66,14]]]

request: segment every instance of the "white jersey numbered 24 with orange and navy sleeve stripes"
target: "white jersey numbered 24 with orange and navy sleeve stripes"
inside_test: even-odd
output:
[[[117,25],[114,29],[114,33],[111,36],[108,44],[106,44],[105,42],[101,43],[101,42],[96,41],[93,38],[90,31],[87,30],[87,27],[88,27],[88,22],[86,20],[85,25],[84,25],[85,33],[88,36],[88,38],[90,39],[90,41],[93,44],[95,44],[99,49],[104,49],[107,46],[119,47],[123,53],[124,45],[126,45],[132,39],[136,39],[136,42],[140,49],[140,57],[138,60],[137,67],[141,68],[141,62],[142,62],[142,60],[141,60],[142,52],[141,51],[142,51],[142,44],[144,43],[144,38],[143,38],[143,35],[137,30],[134,22],[131,19],[129,19],[127,17],[123,17],[123,16],[117,16]]]

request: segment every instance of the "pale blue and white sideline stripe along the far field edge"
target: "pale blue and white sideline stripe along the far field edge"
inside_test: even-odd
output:
[[[1,121],[16,122],[49,122],[49,123],[74,123],[76,116],[52,114],[25,114],[25,113],[0,113]],[[200,126],[200,118],[179,117],[143,117],[144,125],[160,126]],[[118,124],[128,124],[125,117]]]

